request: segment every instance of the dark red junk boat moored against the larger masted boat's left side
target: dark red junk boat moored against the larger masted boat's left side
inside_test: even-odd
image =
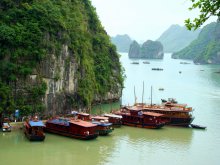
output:
[[[120,111],[114,112],[122,116],[122,124],[140,128],[161,128],[166,122],[163,121],[163,114],[153,112],[143,112],[142,108],[123,107]]]

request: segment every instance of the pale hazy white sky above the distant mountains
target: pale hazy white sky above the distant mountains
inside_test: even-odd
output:
[[[91,1],[110,36],[128,34],[139,42],[156,40],[170,25],[183,26],[185,19],[198,16],[198,11],[188,10],[190,0]]]

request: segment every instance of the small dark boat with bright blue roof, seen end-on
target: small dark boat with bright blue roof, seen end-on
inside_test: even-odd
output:
[[[44,127],[44,123],[35,117],[33,120],[27,120],[24,122],[24,134],[30,141],[44,141]]]

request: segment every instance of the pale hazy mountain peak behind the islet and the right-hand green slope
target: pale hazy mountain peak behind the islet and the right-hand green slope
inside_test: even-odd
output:
[[[197,38],[200,29],[189,31],[185,26],[170,26],[158,39],[164,46],[164,52],[177,52]]]

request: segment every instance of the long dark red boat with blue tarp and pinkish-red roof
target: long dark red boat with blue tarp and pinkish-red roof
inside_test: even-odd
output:
[[[97,125],[73,118],[55,118],[47,120],[47,132],[68,136],[76,139],[95,139],[98,137]]]

